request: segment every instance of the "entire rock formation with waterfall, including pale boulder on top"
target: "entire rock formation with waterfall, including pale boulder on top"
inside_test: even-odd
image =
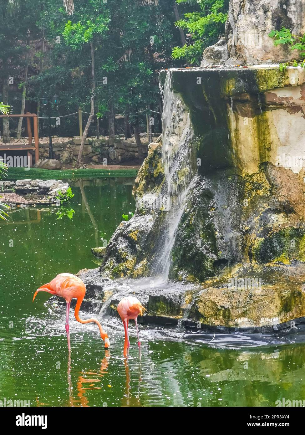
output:
[[[304,33],[305,5],[231,0],[226,39],[205,62],[289,60],[291,50],[268,37],[282,26]],[[186,68],[160,81],[162,138],[149,146],[136,213],[112,236],[102,276],[146,277],[128,285],[148,315],[290,331],[305,321],[304,69]]]

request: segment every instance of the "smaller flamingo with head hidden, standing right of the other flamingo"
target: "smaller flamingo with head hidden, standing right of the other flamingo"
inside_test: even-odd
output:
[[[134,296],[127,296],[127,298],[122,299],[119,304],[117,305],[117,312],[119,313],[123,325],[124,325],[124,331],[125,331],[125,342],[124,342],[124,357],[128,357],[129,347],[130,347],[130,341],[129,341],[129,335],[128,335],[128,321],[130,319],[133,319],[136,324],[137,329],[137,345],[139,346],[139,353],[140,353],[140,361],[141,361],[141,341],[139,337],[139,331],[137,328],[137,316],[140,314],[143,315],[143,311],[146,311],[143,305],[140,301],[137,300],[137,298],[134,298]]]

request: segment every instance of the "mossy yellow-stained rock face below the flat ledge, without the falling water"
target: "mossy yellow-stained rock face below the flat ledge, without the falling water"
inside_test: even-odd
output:
[[[169,278],[200,284],[181,318],[261,327],[302,317],[304,70],[175,70],[171,87],[190,114],[190,146],[197,150],[171,249]],[[168,141],[177,147],[175,134]],[[135,216],[107,247],[101,270],[110,278],[154,279],[162,234],[169,231],[161,145],[161,138],[150,145],[135,181]],[[178,172],[183,184],[188,172]]]

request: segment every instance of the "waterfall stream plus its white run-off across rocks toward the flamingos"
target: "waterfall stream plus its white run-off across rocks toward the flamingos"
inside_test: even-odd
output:
[[[111,303],[124,295],[141,288],[169,288],[168,282],[171,268],[171,251],[174,247],[177,228],[184,213],[189,191],[194,179],[192,161],[192,129],[188,111],[178,94],[172,90],[172,72],[168,70],[164,87],[162,112],[162,165],[164,167],[168,209],[160,231],[157,260],[151,266],[149,278],[138,278],[114,282],[105,288],[113,291],[113,295],[101,305],[99,315],[104,317]],[[164,193],[162,192],[162,195]],[[177,286],[177,284],[174,284]],[[187,310],[186,310],[187,311]],[[178,328],[181,327],[180,322]]]

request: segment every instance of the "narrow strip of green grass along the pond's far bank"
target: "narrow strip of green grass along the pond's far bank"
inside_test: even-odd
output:
[[[17,180],[41,178],[42,180],[60,180],[61,178],[109,178],[109,177],[136,177],[137,169],[66,169],[63,171],[50,171],[48,169],[30,168],[25,171],[23,167],[9,167],[7,179]]]

